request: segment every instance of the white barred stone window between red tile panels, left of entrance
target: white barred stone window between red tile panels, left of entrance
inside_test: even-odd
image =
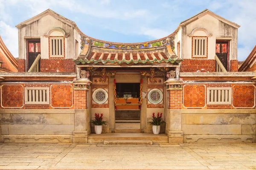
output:
[[[25,87],[26,105],[49,105],[49,88]]]

